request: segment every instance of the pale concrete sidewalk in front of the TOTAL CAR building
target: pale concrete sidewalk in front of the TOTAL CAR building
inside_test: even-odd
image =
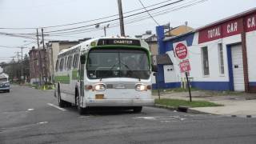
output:
[[[158,95],[154,94],[154,98],[158,98]],[[166,92],[165,94],[161,94],[160,98],[189,100],[188,92]],[[226,94],[222,92],[198,90],[192,91],[192,101],[193,100],[206,100],[224,106],[197,107],[190,108],[190,110],[196,110],[207,114],[235,115],[238,117],[246,117],[247,115],[250,115],[251,117],[256,118],[256,94]]]

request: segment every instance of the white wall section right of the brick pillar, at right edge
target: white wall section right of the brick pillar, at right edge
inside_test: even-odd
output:
[[[246,33],[249,82],[256,82],[256,30]]]

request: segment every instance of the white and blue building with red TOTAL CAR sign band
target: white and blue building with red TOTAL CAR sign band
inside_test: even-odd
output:
[[[174,46],[186,42],[191,85],[202,90],[256,92],[256,9],[203,26],[173,38],[157,27],[158,52],[168,54],[173,65],[158,65],[158,85],[181,86],[184,74],[174,57]]]

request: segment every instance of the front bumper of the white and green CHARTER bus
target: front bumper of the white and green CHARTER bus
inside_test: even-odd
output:
[[[88,99],[86,106],[154,106],[154,99]]]

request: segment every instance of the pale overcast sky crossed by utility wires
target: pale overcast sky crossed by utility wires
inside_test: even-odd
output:
[[[145,6],[150,6],[147,9],[153,9],[158,6],[165,5],[170,2],[176,2],[178,0],[141,0]],[[198,0],[199,1],[199,0]],[[160,5],[151,6],[159,2],[164,2]],[[200,2],[194,6],[181,8],[186,6],[194,0],[184,0],[183,2],[176,3],[171,6],[166,6],[158,9],[157,11],[151,11],[154,13],[162,11],[169,11],[165,14],[159,12],[158,16],[154,16],[155,20],[160,24],[164,25],[170,22],[170,26],[180,26],[184,22],[188,22],[188,25],[194,28],[204,26],[210,22],[218,21],[219,19],[229,17],[234,14],[241,13],[245,10],[250,10],[256,7],[256,0],[208,0],[206,2]],[[123,12],[130,10],[137,10],[142,8],[142,5],[138,0],[122,0]],[[140,11],[125,14],[135,14]],[[44,26],[56,26],[74,22],[84,22],[91,19],[103,18],[106,16],[118,14],[118,2],[117,0],[0,0],[0,27],[1,28],[38,28]],[[138,18],[138,16],[140,18]],[[136,17],[125,18],[126,24],[125,31],[126,35],[134,36],[145,33],[146,30],[152,30],[155,33],[155,26],[157,24],[151,19],[142,20],[142,18],[148,17],[147,14],[140,14]],[[74,28],[78,26],[87,26],[97,22],[102,22],[113,18],[100,19],[95,22],[85,22],[78,25],[71,26],[60,26],[54,28],[46,28],[44,31],[63,30]],[[138,18],[138,19],[134,19]],[[136,22],[134,22],[136,21]],[[132,23],[130,23],[132,22]],[[82,31],[81,29],[76,33],[82,34],[65,34],[62,36],[51,36],[46,37],[46,40],[77,40],[79,38],[92,38],[101,37],[104,35],[102,30],[103,26],[110,24],[110,28],[106,30],[108,36],[118,35],[119,27],[117,26],[118,21],[107,22],[100,25],[99,29],[96,30],[94,26],[89,26],[82,29],[90,29]],[[22,33],[30,34],[35,33],[36,30],[5,30],[0,29],[0,32],[5,33]],[[60,31],[58,33],[62,33]],[[56,32],[57,33],[57,32]],[[74,32],[73,32],[74,33]],[[55,34],[56,35],[56,34]],[[59,35],[59,34],[57,34]],[[14,38],[0,34],[0,46],[22,46],[32,42],[33,39],[27,38]],[[34,43],[27,45],[28,47],[36,46]],[[25,53],[29,49],[24,50]],[[14,52],[20,51],[15,48],[3,48],[0,47],[0,62],[6,61],[6,57],[14,56]],[[25,54],[24,53],[24,54]],[[7,58],[10,59],[10,58]]]

